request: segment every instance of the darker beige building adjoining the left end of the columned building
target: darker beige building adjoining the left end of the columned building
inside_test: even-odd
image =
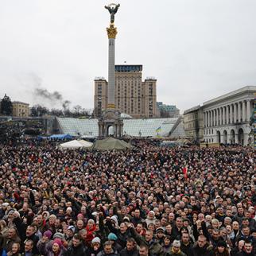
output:
[[[204,119],[202,107],[192,107],[183,114],[184,131],[186,138],[192,142],[200,143],[204,138]]]

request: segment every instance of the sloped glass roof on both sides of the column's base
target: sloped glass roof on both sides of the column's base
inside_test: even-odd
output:
[[[123,119],[123,133],[134,137],[167,137],[178,118]],[[56,118],[61,134],[98,136],[98,119]]]

